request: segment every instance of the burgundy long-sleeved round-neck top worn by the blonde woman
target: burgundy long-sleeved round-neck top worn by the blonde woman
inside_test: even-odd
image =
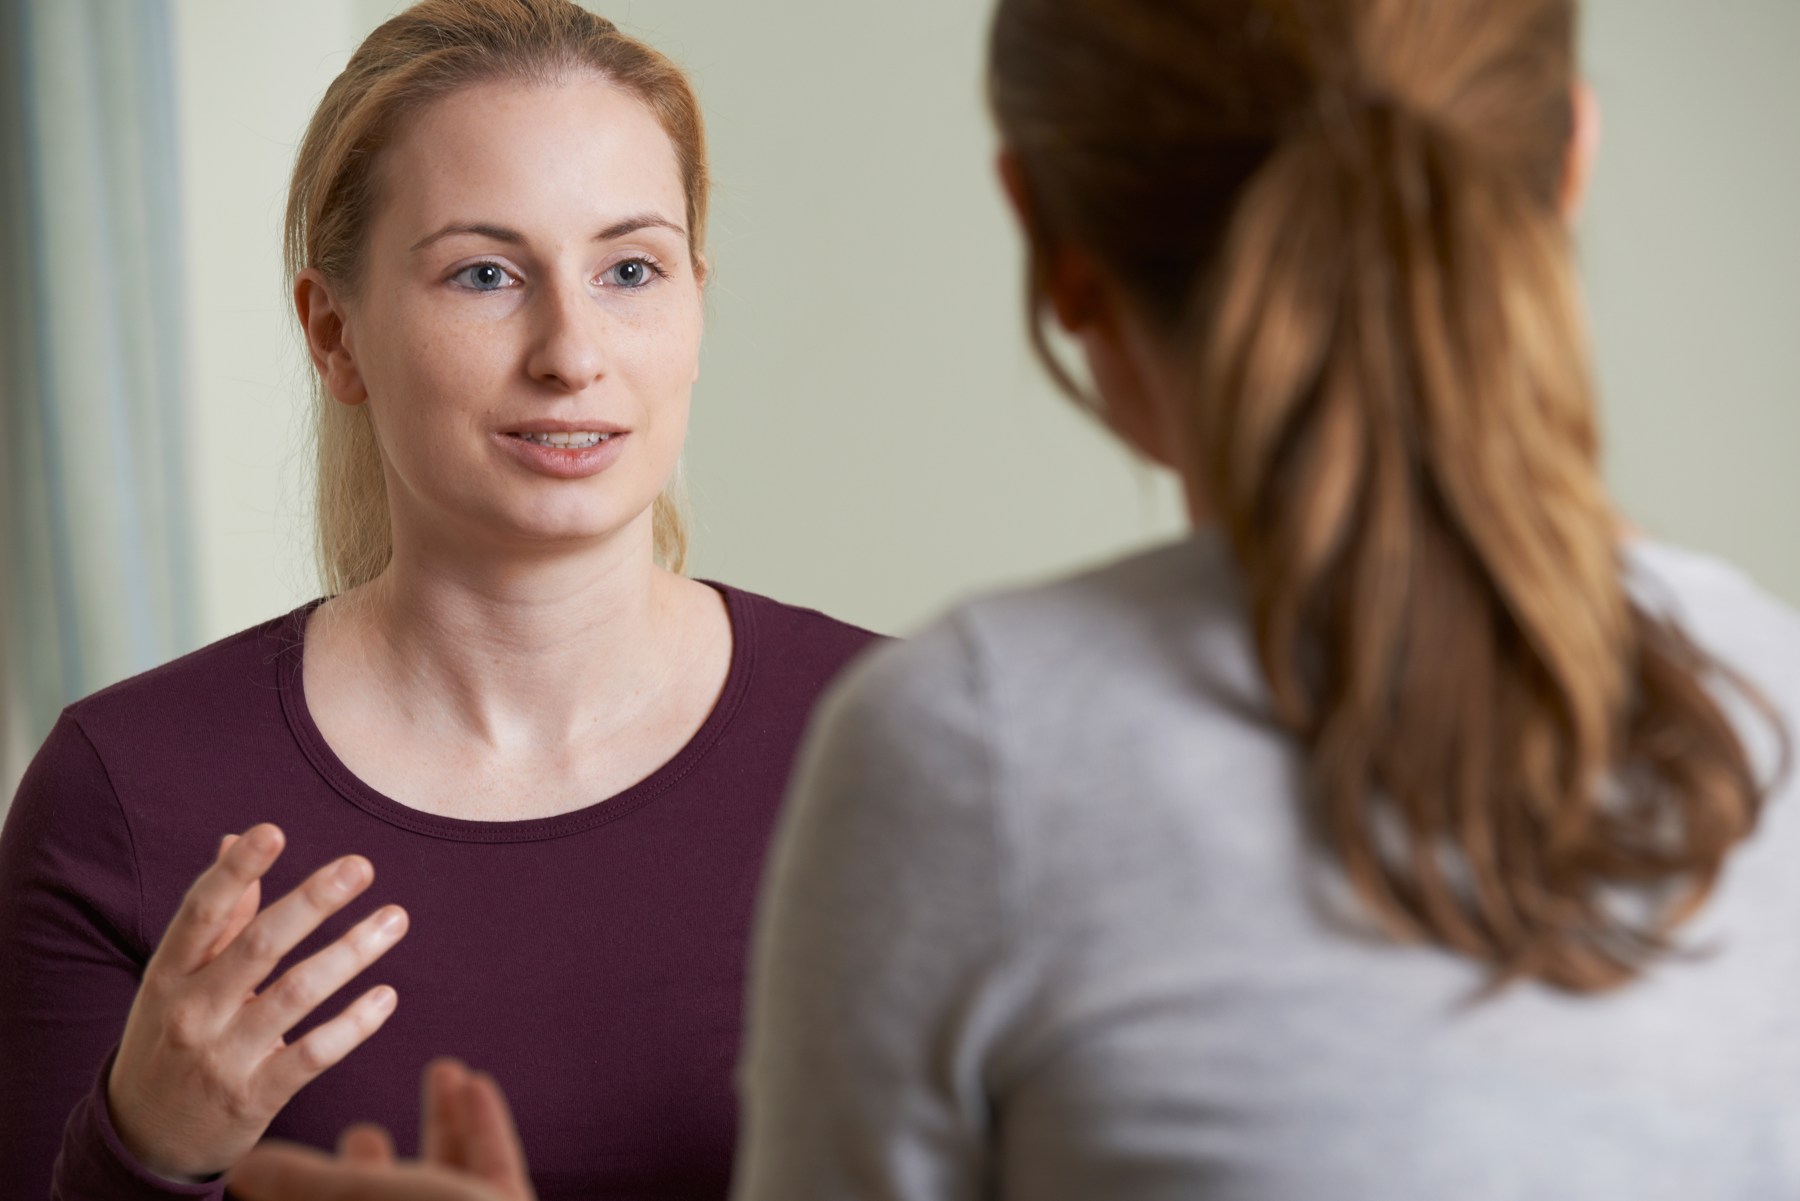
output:
[[[716,585],[715,585],[716,587]],[[538,821],[457,821],[356,780],[306,711],[308,609],[72,704],[0,834],[0,1194],[220,1196],[130,1160],[99,1086],[151,951],[220,835],[274,821],[265,902],[337,855],[412,926],[290,1039],[376,983],[400,1007],[268,1133],[333,1147],[374,1120],[412,1154],[434,1055],[506,1089],[544,1201],[724,1197],[745,945],[806,715],[875,636],[720,589],[731,672],[700,733],[625,792]],[[65,1129],[67,1124],[67,1129]]]

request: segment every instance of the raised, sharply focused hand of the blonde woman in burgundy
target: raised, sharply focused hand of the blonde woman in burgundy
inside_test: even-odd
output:
[[[281,855],[272,825],[229,835],[187,889],[144,969],[106,1082],[113,1129],[151,1172],[196,1181],[236,1163],[308,1080],[374,1034],[398,1001],[382,985],[292,1046],[284,1034],[407,933],[385,906],[261,992],[288,951],[374,882],[346,855],[257,911],[263,873]]]

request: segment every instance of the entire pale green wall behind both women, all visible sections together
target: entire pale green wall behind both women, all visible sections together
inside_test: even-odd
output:
[[[196,493],[218,636],[311,592],[274,238],[292,144],[383,0],[178,0]],[[1179,528],[1030,362],[979,0],[621,0],[693,68],[720,180],[689,475],[702,574],[907,630]],[[1652,533],[1800,600],[1800,2],[1597,0],[1582,223],[1609,470]]]

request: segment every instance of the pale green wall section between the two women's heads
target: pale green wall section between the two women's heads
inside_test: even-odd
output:
[[[632,0],[698,74],[698,571],[880,630],[1179,529],[1030,358],[968,0]]]

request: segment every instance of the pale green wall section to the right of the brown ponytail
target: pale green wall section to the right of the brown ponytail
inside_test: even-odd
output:
[[[1800,603],[1800,0],[1589,0],[1586,41],[1615,490]]]

